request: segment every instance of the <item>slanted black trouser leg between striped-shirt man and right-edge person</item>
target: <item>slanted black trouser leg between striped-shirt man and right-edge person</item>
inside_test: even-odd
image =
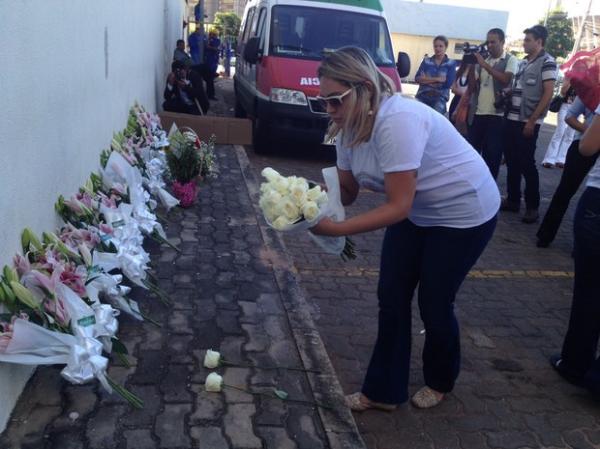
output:
[[[579,140],[573,141],[567,150],[567,158],[560,182],[552,196],[544,220],[538,229],[538,239],[547,243],[554,240],[560,223],[569,208],[571,198],[577,193],[577,189],[579,189],[584,178],[596,163],[596,159],[598,159],[598,153],[590,157],[583,156],[579,153]]]

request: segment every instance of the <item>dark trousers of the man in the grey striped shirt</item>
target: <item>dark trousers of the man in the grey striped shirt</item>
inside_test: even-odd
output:
[[[535,125],[533,136],[525,137],[525,122],[506,120],[506,190],[507,200],[512,204],[521,203],[521,178],[525,178],[525,205],[527,209],[540,206],[540,176],[535,165],[535,148],[540,125]]]

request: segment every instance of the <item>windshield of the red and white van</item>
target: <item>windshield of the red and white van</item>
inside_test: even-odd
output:
[[[269,54],[320,60],[324,52],[355,45],[379,66],[393,66],[392,45],[382,17],[305,6],[274,6]]]

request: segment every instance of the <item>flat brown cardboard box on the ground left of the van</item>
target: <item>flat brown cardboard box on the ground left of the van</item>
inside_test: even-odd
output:
[[[171,128],[174,122],[177,127],[187,126],[193,129],[201,140],[206,140],[214,134],[216,142],[219,144],[252,144],[252,122],[245,118],[179,114],[176,112],[160,112],[158,116],[163,129],[166,131]]]

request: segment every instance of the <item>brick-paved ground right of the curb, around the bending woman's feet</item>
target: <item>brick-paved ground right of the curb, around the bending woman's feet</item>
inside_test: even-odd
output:
[[[226,101],[231,86],[221,84]],[[553,132],[544,126],[537,160]],[[320,179],[333,165],[324,148],[282,145],[286,156],[259,156],[247,147],[257,172],[272,166],[284,174]],[[540,167],[545,212],[559,169]],[[504,191],[504,168],[500,174]],[[361,192],[355,215],[383,201]],[[369,449],[516,449],[600,447],[600,405],[560,379],[548,357],[560,351],[572,292],[573,201],[550,248],[535,247],[537,225],[502,213],[489,247],[457,298],[463,368],[458,384],[440,406],[419,411],[405,405],[393,413],[355,414]],[[360,388],[376,336],[376,281],[383,233],[356,236],[360,254],[343,263],[324,255],[305,235],[285,243],[307,292],[311,313],[345,392]],[[416,307],[415,307],[416,309]],[[413,320],[411,390],[422,383],[423,343],[418,314]]]

